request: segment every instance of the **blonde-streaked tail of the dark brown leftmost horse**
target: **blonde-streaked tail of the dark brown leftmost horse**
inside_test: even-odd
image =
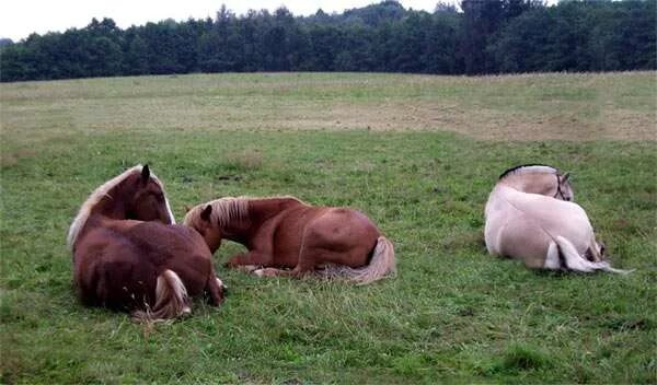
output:
[[[164,270],[158,276],[155,305],[146,311],[132,312],[137,322],[158,322],[189,314],[189,299],[185,284],[173,270]]]

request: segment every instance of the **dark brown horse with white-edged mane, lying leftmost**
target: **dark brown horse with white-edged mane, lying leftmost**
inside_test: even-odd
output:
[[[67,242],[81,302],[128,311],[135,320],[191,313],[189,295],[223,301],[203,237],[175,224],[164,187],[148,165],[107,180],[84,201]]]

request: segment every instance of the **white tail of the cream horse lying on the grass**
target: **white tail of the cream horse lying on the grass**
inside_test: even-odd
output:
[[[626,275],[632,270],[614,269],[609,265],[609,261],[602,260],[592,262],[579,255],[575,249],[575,246],[570,241],[563,236],[557,236],[551,242],[548,249],[548,258],[545,259],[545,268],[549,269],[564,269],[579,272],[593,272],[596,270],[603,270],[609,272],[615,272]]]

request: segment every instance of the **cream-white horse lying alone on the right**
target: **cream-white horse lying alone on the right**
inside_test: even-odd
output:
[[[486,202],[488,253],[532,269],[626,273],[606,260],[604,245],[573,199],[567,173],[541,164],[507,170]]]

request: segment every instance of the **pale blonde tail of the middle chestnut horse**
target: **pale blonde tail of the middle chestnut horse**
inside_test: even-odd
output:
[[[330,278],[342,277],[357,284],[371,283],[396,273],[394,246],[387,237],[379,236],[369,265],[356,269],[348,266],[327,266],[320,270],[320,273]]]

